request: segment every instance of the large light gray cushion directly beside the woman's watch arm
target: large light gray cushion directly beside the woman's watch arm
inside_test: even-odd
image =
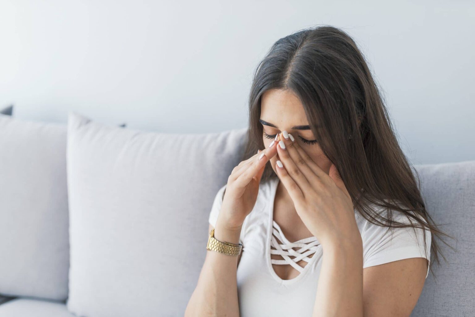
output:
[[[69,113],[72,313],[183,316],[246,131],[150,133]]]

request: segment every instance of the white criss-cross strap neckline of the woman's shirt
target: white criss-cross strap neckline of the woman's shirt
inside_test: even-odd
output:
[[[267,266],[270,274],[282,284],[291,284],[302,279],[304,275],[310,270],[314,262],[321,256],[322,247],[316,237],[308,237],[290,242],[282,232],[279,224],[274,221],[274,203],[276,198],[277,186],[280,179],[276,178],[270,183],[270,203],[269,203],[269,221],[267,228],[267,245],[266,245],[266,258]],[[271,249],[271,246],[276,250]],[[300,248],[294,250],[293,248]],[[272,259],[271,254],[279,254],[283,259]],[[308,256],[314,254],[311,258]],[[291,259],[290,256],[295,258]],[[305,260],[307,264],[302,268],[297,264],[300,260]],[[280,278],[272,264],[291,265],[294,269],[299,271],[299,275],[293,279]]]

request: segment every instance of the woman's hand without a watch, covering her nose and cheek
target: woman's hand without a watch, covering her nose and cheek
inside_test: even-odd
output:
[[[334,164],[329,174],[291,138],[279,134],[277,154],[283,167],[276,164],[277,175],[294,201],[295,210],[322,246],[361,245],[353,202]],[[280,144],[284,143],[285,149]]]

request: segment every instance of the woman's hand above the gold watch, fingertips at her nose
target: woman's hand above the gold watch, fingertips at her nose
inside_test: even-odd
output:
[[[226,229],[240,229],[254,208],[262,173],[266,163],[277,154],[276,145],[277,142],[274,141],[268,148],[259,150],[257,154],[239,163],[229,175],[218,215],[218,222]],[[259,159],[261,154],[264,156]]]

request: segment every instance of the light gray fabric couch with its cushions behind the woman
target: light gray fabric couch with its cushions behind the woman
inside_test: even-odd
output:
[[[160,134],[0,115],[0,317],[182,316],[246,128]],[[439,241],[412,316],[475,316],[475,161],[416,165]]]

